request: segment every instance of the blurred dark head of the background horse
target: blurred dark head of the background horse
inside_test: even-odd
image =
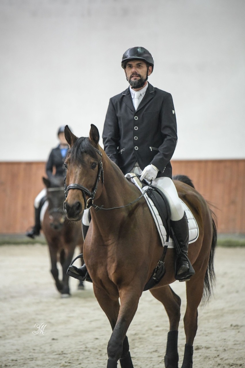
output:
[[[60,230],[66,215],[63,210],[64,203],[64,177],[53,177],[50,179],[43,177],[43,182],[47,188],[48,215],[50,226],[55,230]]]

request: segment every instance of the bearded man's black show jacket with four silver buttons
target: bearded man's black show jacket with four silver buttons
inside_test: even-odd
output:
[[[109,101],[102,133],[104,150],[123,174],[136,162],[141,170],[152,163],[159,169],[157,177],[172,178],[170,159],[177,144],[172,96],[148,84],[135,111],[129,88]]]

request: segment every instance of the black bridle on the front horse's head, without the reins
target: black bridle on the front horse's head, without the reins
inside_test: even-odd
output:
[[[85,204],[85,209],[90,208],[93,205],[94,197],[95,197],[95,194],[96,194],[96,191],[97,191],[97,186],[98,186],[98,182],[100,181],[100,178],[102,180],[102,185],[104,183],[104,175],[103,175],[104,171],[103,171],[103,165],[102,165],[102,161],[101,161],[102,154],[97,148],[94,148],[94,149],[100,155],[100,161],[99,161],[98,176],[97,176],[97,180],[96,180],[96,184],[94,186],[93,192],[90,192],[90,190],[88,190],[87,188],[83,187],[83,185],[80,185],[80,184],[70,184],[70,185],[66,186],[67,166],[65,164],[65,199],[67,198],[67,195],[68,195],[68,192],[69,192],[70,189],[78,189],[78,190],[82,191],[84,204]],[[86,195],[89,196],[89,199],[86,199]]]

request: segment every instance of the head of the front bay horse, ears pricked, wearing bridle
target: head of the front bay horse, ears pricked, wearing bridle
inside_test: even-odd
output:
[[[70,150],[65,160],[66,199],[64,211],[68,219],[78,221],[85,208],[93,204],[96,196],[100,196],[103,182],[101,148],[98,144],[100,135],[95,125],[91,124],[89,138],[76,137],[68,125],[65,127],[65,138]]]

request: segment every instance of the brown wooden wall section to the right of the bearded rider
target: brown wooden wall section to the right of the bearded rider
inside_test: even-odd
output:
[[[219,233],[245,234],[245,160],[173,161],[213,206]]]

